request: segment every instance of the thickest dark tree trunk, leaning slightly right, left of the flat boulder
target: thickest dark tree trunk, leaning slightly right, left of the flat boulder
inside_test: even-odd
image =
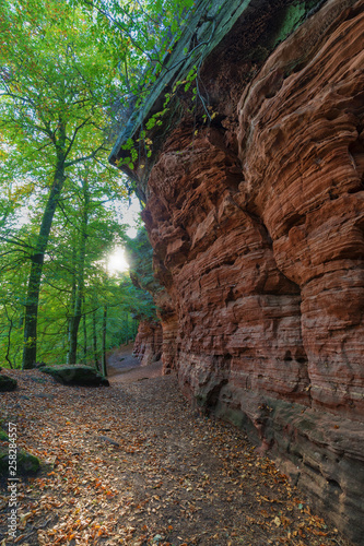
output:
[[[23,369],[32,369],[36,363],[37,317],[44,256],[47,249],[51,223],[64,179],[64,161],[63,157],[61,157],[57,163],[54,183],[50,188],[47,205],[42,218],[38,238],[35,245],[35,252],[31,258],[32,266],[27,284],[24,319]]]

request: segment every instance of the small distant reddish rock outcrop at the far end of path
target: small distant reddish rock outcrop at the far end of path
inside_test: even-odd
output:
[[[162,358],[162,324],[153,320],[139,323],[132,355],[140,359],[142,366],[156,363]]]

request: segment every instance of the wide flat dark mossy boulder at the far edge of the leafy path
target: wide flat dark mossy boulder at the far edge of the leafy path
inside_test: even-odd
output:
[[[97,370],[90,366],[42,366],[39,371],[49,373],[56,381],[62,384],[79,385],[79,387],[109,387],[107,379],[98,373]]]

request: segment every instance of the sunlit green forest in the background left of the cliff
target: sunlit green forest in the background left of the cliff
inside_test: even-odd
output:
[[[155,312],[107,259],[132,183],[107,157],[190,0],[0,0],[1,365],[96,364]],[[140,246],[142,252],[144,244]]]

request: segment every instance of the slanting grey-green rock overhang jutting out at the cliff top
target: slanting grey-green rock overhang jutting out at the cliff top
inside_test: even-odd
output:
[[[231,51],[234,61],[248,63],[248,82],[270,52],[322,3],[322,0],[196,2],[173,51],[165,54],[163,69],[151,92],[133,110],[109,155],[109,163],[136,183],[137,194],[143,201],[151,169],[165,140],[184,116],[186,105],[193,109],[192,94],[184,90],[186,76],[197,71],[207,87],[208,80],[219,73],[222,57]],[[209,116],[206,105],[202,109]],[[151,123],[153,117],[157,120]],[[196,120],[198,123],[197,117]],[[145,142],[151,143],[148,150]],[[130,146],[138,151],[136,162],[128,161]]]

